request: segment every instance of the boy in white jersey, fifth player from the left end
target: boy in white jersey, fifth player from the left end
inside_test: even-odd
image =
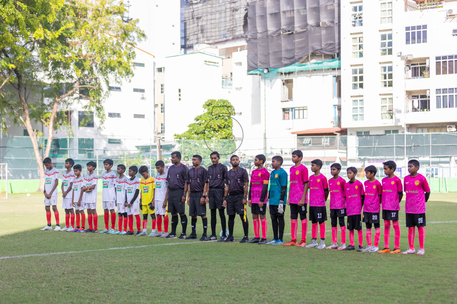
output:
[[[116,213],[115,213],[115,201],[116,193],[114,189],[114,184],[116,182],[117,174],[111,170],[113,166],[113,161],[111,159],[106,159],[103,161],[103,166],[105,167],[105,172],[102,175],[102,190],[101,190],[101,201],[103,205],[103,211],[105,212],[105,229],[99,233],[112,233],[114,232],[114,227],[116,225]],[[109,212],[111,212],[111,229],[108,227],[109,222]]]

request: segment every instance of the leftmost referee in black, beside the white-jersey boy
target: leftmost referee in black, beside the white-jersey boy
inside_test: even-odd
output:
[[[178,237],[184,240],[187,228],[186,216],[186,195],[187,195],[187,179],[189,178],[189,170],[181,164],[181,152],[175,151],[171,153],[171,163],[174,164],[168,169],[167,174],[167,193],[165,194],[164,205],[167,206],[168,212],[171,213],[171,233],[165,238],[176,237],[176,227],[178,226],[178,213],[181,216],[182,233]]]

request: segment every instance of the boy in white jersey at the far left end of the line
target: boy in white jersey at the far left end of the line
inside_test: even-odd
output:
[[[56,227],[54,231],[60,230],[58,222],[58,210],[57,210],[57,185],[58,185],[58,170],[53,167],[53,163],[49,157],[43,160],[43,165],[46,168],[44,170],[44,209],[46,210],[46,219],[48,224],[40,230],[52,230],[51,226],[51,208],[53,206],[54,216],[56,218]]]

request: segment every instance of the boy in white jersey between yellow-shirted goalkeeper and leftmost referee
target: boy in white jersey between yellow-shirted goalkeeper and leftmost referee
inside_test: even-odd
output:
[[[155,215],[157,216],[157,230],[155,237],[166,237],[168,235],[168,205],[164,208],[165,194],[167,192],[167,174],[164,171],[165,164],[163,160],[159,160],[155,163],[155,170],[157,175],[155,176],[155,189],[154,189],[154,200],[155,200]],[[162,216],[164,217],[164,232],[162,233]]]

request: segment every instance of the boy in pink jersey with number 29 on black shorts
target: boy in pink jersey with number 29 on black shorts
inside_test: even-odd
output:
[[[425,241],[425,203],[430,197],[430,187],[424,175],[417,173],[419,170],[419,161],[410,160],[408,162],[409,175],[403,180],[404,191],[406,192],[406,201],[404,211],[406,212],[406,227],[408,227],[408,250],[403,254],[416,253],[414,250],[415,227],[419,232],[419,250],[418,255],[423,255]]]

